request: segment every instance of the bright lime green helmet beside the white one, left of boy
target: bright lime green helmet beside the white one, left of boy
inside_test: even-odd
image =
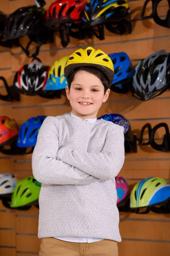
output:
[[[11,208],[37,204],[41,183],[34,176],[22,179],[17,183],[11,198]]]

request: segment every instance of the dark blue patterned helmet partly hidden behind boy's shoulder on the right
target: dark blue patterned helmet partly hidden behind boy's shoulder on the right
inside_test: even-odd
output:
[[[104,119],[106,121],[111,121],[116,125],[123,126],[124,127],[124,135],[127,133],[127,131],[130,128],[130,122],[122,115],[106,114],[106,115],[100,116],[98,119]]]

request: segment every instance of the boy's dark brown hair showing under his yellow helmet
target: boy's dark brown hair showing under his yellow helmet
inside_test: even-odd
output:
[[[71,87],[71,82],[74,80],[75,73],[77,73],[77,71],[79,71],[79,70],[85,70],[85,71],[97,76],[100,79],[100,81],[102,82],[103,86],[104,86],[104,95],[105,95],[106,91],[110,88],[109,80],[105,77],[104,73],[102,73],[102,71],[100,71],[96,67],[78,67],[78,68],[74,69],[71,72],[70,76],[68,77],[68,88],[69,88],[69,90],[70,90],[70,87]]]

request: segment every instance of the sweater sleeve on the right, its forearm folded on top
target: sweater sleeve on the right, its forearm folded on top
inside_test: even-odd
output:
[[[71,148],[60,148],[58,157],[82,172],[110,180],[118,175],[125,160],[124,128],[116,125],[108,132],[101,152],[85,152]]]

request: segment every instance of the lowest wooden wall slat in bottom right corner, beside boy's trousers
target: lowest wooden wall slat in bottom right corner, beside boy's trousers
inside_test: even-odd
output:
[[[118,243],[120,256],[169,256],[170,244],[152,241],[122,241]]]

